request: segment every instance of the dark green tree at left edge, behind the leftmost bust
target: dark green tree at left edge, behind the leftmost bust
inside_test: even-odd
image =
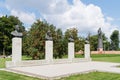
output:
[[[14,16],[0,17],[0,52],[3,55],[11,54],[12,48],[12,35],[15,25],[22,26],[22,22]],[[24,26],[21,27],[24,30]],[[22,31],[23,31],[22,30]]]

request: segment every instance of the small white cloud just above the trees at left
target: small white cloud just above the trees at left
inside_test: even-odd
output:
[[[11,10],[11,15],[17,16],[22,22],[29,25],[33,24],[36,19],[34,13],[26,13],[16,10]]]

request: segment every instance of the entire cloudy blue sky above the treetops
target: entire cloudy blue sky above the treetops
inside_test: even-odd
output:
[[[26,29],[40,19],[63,31],[76,27],[80,36],[97,34],[100,27],[109,36],[120,29],[119,4],[120,0],[0,0],[0,16],[17,16]]]

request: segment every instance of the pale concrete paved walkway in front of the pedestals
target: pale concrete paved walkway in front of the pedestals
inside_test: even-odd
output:
[[[54,79],[71,74],[79,74],[91,71],[120,73],[120,68],[116,67],[120,63],[109,62],[80,62],[70,64],[52,64],[31,67],[8,68],[8,71],[23,73],[44,79]]]

